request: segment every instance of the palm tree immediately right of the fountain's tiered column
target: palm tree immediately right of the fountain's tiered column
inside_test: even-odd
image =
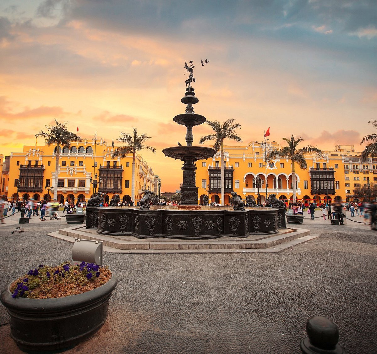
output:
[[[241,128],[241,125],[238,123],[234,124],[235,119],[225,120],[224,123],[219,123],[217,120],[210,121],[207,120],[206,123],[213,129],[214,134],[205,135],[199,140],[199,144],[208,142],[209,140],[215,140],[213,148],[218,152],[220,150],[220,159],[221,159],[221,205],[225,205],[225,177],[224,177],[224,139],[233,139],[237,142],[242,142],[242,139],[234,134],[234,131],[238,128]]]

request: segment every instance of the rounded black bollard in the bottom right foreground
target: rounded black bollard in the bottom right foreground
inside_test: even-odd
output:
[[[344,353],[343,348],[338,344],[338,328],[327,317],[311,317],[308,319],[306,330],[308,337],[304,338],[300,343],[301,351],[304,354]]]

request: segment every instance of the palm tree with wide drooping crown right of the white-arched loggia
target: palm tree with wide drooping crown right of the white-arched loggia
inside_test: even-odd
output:
[[[296,203],[296,172],[294,169],[294,163],[296,162],[300,169],[307,169],[308,164],[305,160],[305,156],[307,154],[323,154],[323,151],[320,149],[315,148],[314,146],[308,145],[304,146],[301,149],[297,149],[297,145],[302,142],[304,139],[302,138],[295,138],[292,134],[291,139],[283,138],[288,144],[288,146],[284,146],[280,149],[274,149],[270,151],[267,156],[266,160],[270,161],[272,159],[290,159],[292,162],[292,189],[293,189],[293,203]],[[267,178],[267,176],[266,176]],[[266,181],[267,183],[267,181]]]

